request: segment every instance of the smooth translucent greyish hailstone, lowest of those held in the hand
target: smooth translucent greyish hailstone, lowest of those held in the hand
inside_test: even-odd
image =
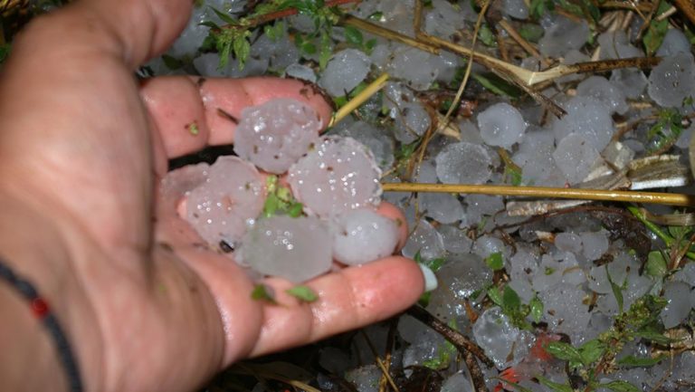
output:
[[[330,270],[331,243],[328,225],[317,217],[271,216],[243,236],[237,259],[256,272],[299,283]]]

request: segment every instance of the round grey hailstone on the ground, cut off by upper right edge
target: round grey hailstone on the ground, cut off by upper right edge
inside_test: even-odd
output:
[[[670,108],[680,107],[688,97],[695,96],[695,61],[691,53],[666,57],[649,75],[649,96],[656,103]]]

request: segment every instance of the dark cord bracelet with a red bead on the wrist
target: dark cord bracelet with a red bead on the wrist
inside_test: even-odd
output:
[[[45,327],[51,335],[55,348],[58,350],[58,357],[62,363],[62,367],[65,368],[70,391],[81,392],[83,388],[80,378],[80,369],[78,368],[77,361],[70,348],[70,343],[68,343],[68,339],[65,336],[65,332],[62,330],[61,324],[52,314],[48,303],[36,292],[32,283],[17,276],[17,274],[3,263],[2,260],[0,260],[0,278],[10,283],[17,292],[22,294],[24,299],[29,301],[34,317],[43,322],[43,327]]]

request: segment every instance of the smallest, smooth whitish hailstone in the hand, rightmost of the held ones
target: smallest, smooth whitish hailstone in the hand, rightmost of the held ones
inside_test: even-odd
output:
[[[333,257],[340,263],[363,264],[394,253],[398,225],[368,208],[338,216],[333,234]]]

